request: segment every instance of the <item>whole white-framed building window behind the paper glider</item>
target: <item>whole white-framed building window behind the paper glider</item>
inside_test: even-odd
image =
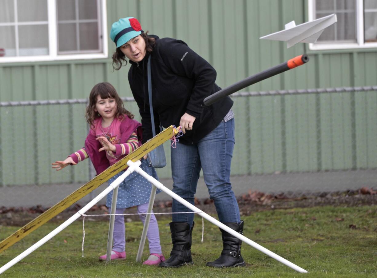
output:
[[[310,49],[377,47],[376,0],[308,0],[309,20],[337,15],[337,23],[323,31]]]

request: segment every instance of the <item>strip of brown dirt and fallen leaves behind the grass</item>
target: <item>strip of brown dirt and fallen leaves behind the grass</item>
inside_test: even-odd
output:
[[[250,215],[252,212],[272,209],[289,209],[294,207],[314,207],[314,206],[363,206],[376,205],[377,194],[374,190],[362,188],[354,191],[321,193],[319,195],[301,196],[298,198],[287,198],[284,194],[266,195],[263,192],[248,192],[237,198],[241,216]],[[172,211],[172,201],[160,201],[155,204],[153,211],[155,213],[169,213]],[[216,209],[213,201],[210,199],[195,199],[195,206],[204,212],[214,215]],[[80,210],[81,206],[75,204],[61,212],[51,221],[62,222],[71,217]],[[0,225],[2,226],[24,226],[48,207],[0,207]],[[136,213],[136,207],[131,207],[125,213]],[[95,205],[88,212],[90,214],[107,214],[107,207],[104,205]],[[126,215],[126,221],[139,220],[138,215]],[[170,218],[170,214],[157,215],[158,218]],[[81,221],[81,218],[78,219]],[[87,217],[88,221],[108,221],[108,217]]]

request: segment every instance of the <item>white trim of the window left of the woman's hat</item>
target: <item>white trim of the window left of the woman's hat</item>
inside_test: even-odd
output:
[[[102,18],[102,53],[88,53],[88,54],[60,54],[58,55],[57,46],[57,24],[56,24],[56,1],[47,0],[48,11],[48,32],[49,32],[49,55],[43,56],[18,56],[18,57],[0,57],[0,63],[13,62],[38,62],[38,61],[61,61],[61,60],[89,60],[89,59],[103,59],[108,58],[107,47],[107,10],[106,0],[102,0],[101,18]],[[99,12],[98,12],[99,13]],[[17,28],[16,28],[17,30]],[[18,40],[18,36],[16,36]]]

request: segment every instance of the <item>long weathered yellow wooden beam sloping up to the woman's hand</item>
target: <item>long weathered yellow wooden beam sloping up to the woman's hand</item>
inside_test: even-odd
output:
[[[114,165],[110,166],[106,170],[104,170],[101,174],[93,178],[92,180],[88,181],[86,184],[81,186],[79,189],[77,189],[72,194],[68,195],[66,198],[61,200],[59,203],[55,204],[48,210],[46,210],[44,213],[39,215],[34,220],[30,221],[28,224],[23,226],[21,229],[19,229],[17,232],[13,233],[9,237],[7,237],[5,240],[0,242],[0,253],[6,250],[8,247],[15,244],[17,241],[21,240],[21,238],[25,237],[32,231],[36,230],[38,227],[42,226],[44,223],[49,221],[51,218],[58,215],[60,212],[65,210],[67,207],[71,206],[90,192],[92,192],[94,189],[99,187],[101,184],[109,180],[114,175],[118,174],[122,170],[126,169],[127,161],[131,160],[133,162],[139,160],[144,155],[146,155],[148,152],[152,151],[165,141],[169,140],[173,137],[173,135],[176,135],[178,133],[178,129],[170,126],[164,131],[157,134],[155,137],[153,137],[150,141],[146,142],[145,144],[141,145],[138,149],[124,157],[122,160],[118,161]]]

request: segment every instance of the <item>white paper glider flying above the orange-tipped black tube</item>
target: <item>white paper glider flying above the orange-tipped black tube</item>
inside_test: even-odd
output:
[[[327,15],[297,26],[294,21],[291,21],[285,25],[285,30],[266,35],[261,39],[287,41],[287,48],[296,43],[315,43],[323,30],[336,22],[336,14]]]

